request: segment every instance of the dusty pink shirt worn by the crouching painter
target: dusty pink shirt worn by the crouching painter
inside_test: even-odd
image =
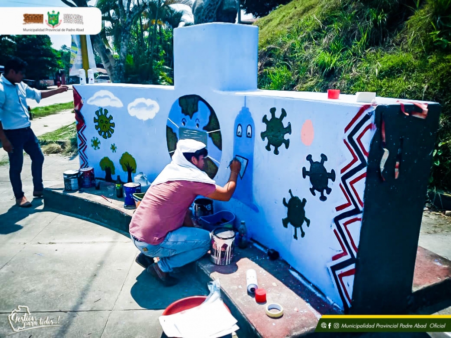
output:
[[[169,181],[151,186],[135,210],[130,233],[146,243],[161,243],[167,233],[183,225],[186,212],[197,195],[208,196],[214,184]]]

